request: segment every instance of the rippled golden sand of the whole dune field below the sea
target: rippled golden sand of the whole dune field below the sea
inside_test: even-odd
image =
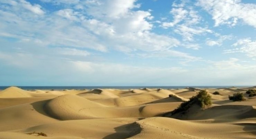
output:
[[[211,107],[172,116],[201,89],[9,87],[0,91],[0,139],[255,139],[256,97],[248,98],[248,89],[207,88]],[[247,100],[229,100],[236,92]]]

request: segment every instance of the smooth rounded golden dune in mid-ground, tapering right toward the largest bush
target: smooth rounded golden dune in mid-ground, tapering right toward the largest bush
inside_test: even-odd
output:
[[[150,117],[172,111],[175,107],[166,107],[170,103],[148,104],[132,107],[107,107],[76,95],[63,95],[50,100],[46,113],[59,120],[79,120],[91,118]],[[149,111],[148,109],[153,109]]]

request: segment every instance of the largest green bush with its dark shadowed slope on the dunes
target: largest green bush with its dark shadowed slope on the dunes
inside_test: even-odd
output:
[[[201,108],[206,108],[212,105],[211,96],[207,94],[206,90],[201,90],[197,93],[196,96],[193,96],[189,99],[189,101],[183,102],[179,105],[177,109],[172,111],[172,115],[179,112],[186,112],[192,105],[197,104]]]

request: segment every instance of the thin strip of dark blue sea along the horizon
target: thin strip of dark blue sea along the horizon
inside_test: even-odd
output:
[[[9,86],[0,86],[0,90],[4,90]],[[64,89],[76,89],[76,90],[83,90],[83,89],[140,89],[140,88],[162,88],[162,89],[181,89],[187,87],[193,88],[229,88],[233,86],[16,86],[23,90],[64,90]],[[252,86],[235,86],[237,88],[247,88]]]

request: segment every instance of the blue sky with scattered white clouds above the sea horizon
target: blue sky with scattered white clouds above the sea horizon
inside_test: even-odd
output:
[[[254,0],[0,0],[0,86],[256,85]]]

